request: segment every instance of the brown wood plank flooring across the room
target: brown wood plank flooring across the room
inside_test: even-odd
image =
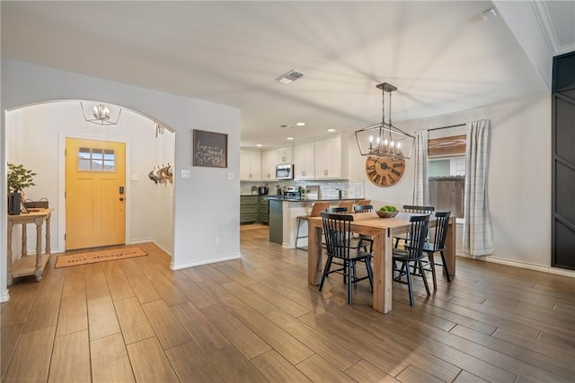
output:
[[[572,382],[575,279],[457,259],[415,307],[349,306],[341,277],[307,284],[307,253],[241,231],[242,259],[171,271],[148,257],[19,278],[1,307],[11,382]],[[190,251],[192,251],[190,249]]]

